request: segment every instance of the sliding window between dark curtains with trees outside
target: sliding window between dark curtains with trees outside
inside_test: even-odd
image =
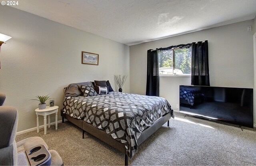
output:
[[[191,75],[191,47],[158,52],[160,75]]]

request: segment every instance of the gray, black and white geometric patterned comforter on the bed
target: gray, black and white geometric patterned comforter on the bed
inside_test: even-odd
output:
[[[82,119],[122,142],[132,158],[143,130],[173,110],[162,97],[110,92],[108,95],[66,97],[63,111]]]

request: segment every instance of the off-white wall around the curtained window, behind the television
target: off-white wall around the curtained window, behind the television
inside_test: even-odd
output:
[[[130,46],[130,93],[146,93],[148,49],[205,40],[208,40],[210,85],[253,88],[253,32],[247,32],[249,25],[253,25],[253,20]],[[160,77],[160,96],[174,110],[179,110],[178,85],[190,83],[190,77]]]

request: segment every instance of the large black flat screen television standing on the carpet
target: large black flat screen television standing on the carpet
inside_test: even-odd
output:
[[[253,89],[180,85],[180,113],[253,128]]]

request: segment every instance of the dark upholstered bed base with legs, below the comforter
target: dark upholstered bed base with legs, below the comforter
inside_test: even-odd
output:
[[[91,124],[86,123],[83,120],[72,118],[69,115],[62,113],[62,111],[61,111],[61,116],[62,116],[62,123],[64,123],[64,118],[65,118],[68,121],[70,121],[71,123],[75,124],[76,126],[82,128],[82,130],[83,130],[82,138],[84,138],[84,132],[86,131],[86,132],[92,134],[93,136],[95,136],[96,138],[99,138],[106,144],[109,144],[113,148],[116,148],[120,152],[124,153],[125,154],[124,165],[125,166],[128,165],[128,156],[126,155],[126,148],[125,148],[124,144],[122,144],[121,142],[118,142],[117,140],[112,138],[112,136],[110,136],[106,132],[104,132],[103,130],[98,129],[98,128],[92,126]],[[137,140],[138,145],[140,145],[150,135],[152,135],[154,132],[156,132],[156,130],[158,130],[158,128],[160,128],[162,125],[164,125],[164,123],[167,122],[167,125],[169,126],[169,119],[171,119],[171,113],[166,113],[165,115],[162,116],[161,119],[159,119],[154,124],[152,124],[149,128],[144,130],[141,133],[139,139]]]

